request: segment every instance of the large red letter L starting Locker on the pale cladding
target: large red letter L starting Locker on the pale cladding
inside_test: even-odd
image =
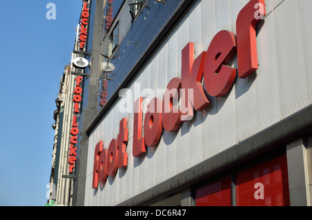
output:
[[[146,152],[144,138],[142,137],[142,102],[143,98],[135,101],[135,118],[133,122],[133,148],[132,155],[139,157]]]

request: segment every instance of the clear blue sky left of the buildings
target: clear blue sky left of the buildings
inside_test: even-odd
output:
[[[46,19],[55,3],[56,19]],[[1,1],[0,205],[44,205],[53,111],[81,0]]]

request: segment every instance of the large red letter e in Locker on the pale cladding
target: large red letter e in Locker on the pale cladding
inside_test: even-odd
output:
[[[221,30],[212,39],[206,59],[204,84],[207,93],[211,96],[223,96],[231,88],[236,68],[225,66],[236,53],[235,35],[227,30]]]

